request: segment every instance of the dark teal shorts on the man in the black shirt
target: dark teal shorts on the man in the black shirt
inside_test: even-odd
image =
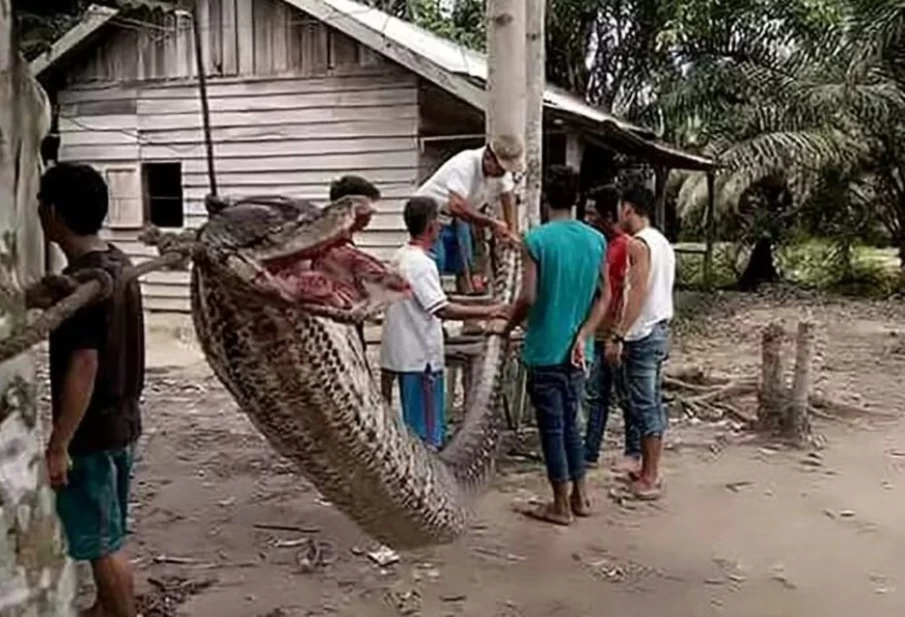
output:
[[[57,513],[73,559],[94,561],[122,548],[134,447],[71,455],[68,483],[57,491]]]

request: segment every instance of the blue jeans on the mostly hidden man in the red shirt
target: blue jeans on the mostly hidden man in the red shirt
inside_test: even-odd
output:
[[[596,463],[600,458],[600,445],[610,415],[614,377],[613,368],[606,361],[603,342],[595,342],[591,375],[585,387],[588,426],[585,429],[584,457],[589,463]],[[627,405],[622,405],[622,418],[625,421],[625,455],[640,456],[641,433],[638,431],[638,424],[628,413]]]

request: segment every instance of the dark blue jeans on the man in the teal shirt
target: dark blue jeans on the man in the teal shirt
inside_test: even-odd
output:
[[[551,482],[584,477],[578,404],[584,373],[571,364],[528,367],[528,397],[537,417],[541,449]]]

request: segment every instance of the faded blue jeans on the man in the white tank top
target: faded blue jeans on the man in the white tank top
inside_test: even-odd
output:
[[[623,404],[641,438],[662,437],[669,419],[663,404],[663,362],[669,356],[669,323],[661,321],[645,338],[626,341],[619,371]]]

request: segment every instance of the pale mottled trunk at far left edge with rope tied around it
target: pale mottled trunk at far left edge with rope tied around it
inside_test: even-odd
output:
[[[35,195],[47,96],[19,55],[15,12],[0,0],[0,285],[19,291],[40,251]],[[24,294],[0,300],[0,339],[26,323]],[[70,617],[75,571],[47,481],[33,359],[0,364],[0,614]]]

